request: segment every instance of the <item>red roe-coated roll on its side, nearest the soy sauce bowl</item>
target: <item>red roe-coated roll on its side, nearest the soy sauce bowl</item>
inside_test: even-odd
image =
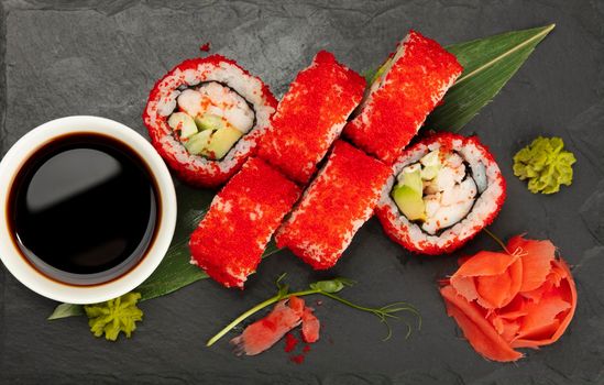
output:
[[[250,158],[213,198],[191,234],[191,263],[227,287],[243,287],[300,193],[262,160]]]

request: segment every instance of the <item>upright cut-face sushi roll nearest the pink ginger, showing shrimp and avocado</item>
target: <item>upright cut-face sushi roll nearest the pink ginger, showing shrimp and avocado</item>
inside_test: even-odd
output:
[[[449,253],[497,216],[505,180],[475,136],[439,133],[407,148],[376,208],[386,234],[421,254]]]

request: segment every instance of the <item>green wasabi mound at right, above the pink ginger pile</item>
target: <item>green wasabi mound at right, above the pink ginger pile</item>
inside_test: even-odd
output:
[[[532,194],[553,194],[572,183],[574,155],[563,150],[561,138],[539,136],[514,155],[514,175],[528,179]]]

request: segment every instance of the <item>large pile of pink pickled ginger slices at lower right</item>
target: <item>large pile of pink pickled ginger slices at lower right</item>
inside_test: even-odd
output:
[[[460,258],[442,282],[447,314],[485,359],[521,359],[517,348],[558,341],[576,308],[572,274],[550,241],[514,237],[506,252]]]

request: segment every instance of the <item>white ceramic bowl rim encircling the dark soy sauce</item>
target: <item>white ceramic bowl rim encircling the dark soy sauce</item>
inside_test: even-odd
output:
[[[14,177],[23,163],[41,146],[57,136],[70,133],[98,133],[125,143],[146,163],[158,188],[161,215],[155,240],[145,257],[133,268],[113,280],[90,286],[76,286],[52,279],[35,270],[11,242],[7,206]],[[176,194],[169,172],[153,146],[138,132],[110,119],[99,117],[67,117],[44,123],[21,138],[0,162],[0,258],[11,274],[35,293],[69,304],[94,304],[116,298],[143,283],[166,254],[176,224]]]

